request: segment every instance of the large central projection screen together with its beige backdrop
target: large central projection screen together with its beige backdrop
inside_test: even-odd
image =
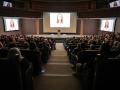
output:
[[[76,33],[75,12],[44,12],[43,13],[43,33]]]

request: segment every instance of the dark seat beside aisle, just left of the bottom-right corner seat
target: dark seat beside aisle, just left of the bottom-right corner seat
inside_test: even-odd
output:
[[[95,72],[95,58],[99,50],[84,50],[76,57],[76,73],[82,78],[85,90],[92,90]]]

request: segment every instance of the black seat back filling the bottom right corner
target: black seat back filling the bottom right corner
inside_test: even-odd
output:
[[[119,90],[120,58],[101,58],[96,60],[94,90]]]

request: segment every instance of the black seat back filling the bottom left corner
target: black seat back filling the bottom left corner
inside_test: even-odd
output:
[[[23,90],[18,56],[15,58],[0,58],[0,82],[4,89]]]

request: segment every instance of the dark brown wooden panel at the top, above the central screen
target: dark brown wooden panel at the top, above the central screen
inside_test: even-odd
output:
[[[93,9],[93,2],[32,2],[32,9],[40,11],[79,11]]]

